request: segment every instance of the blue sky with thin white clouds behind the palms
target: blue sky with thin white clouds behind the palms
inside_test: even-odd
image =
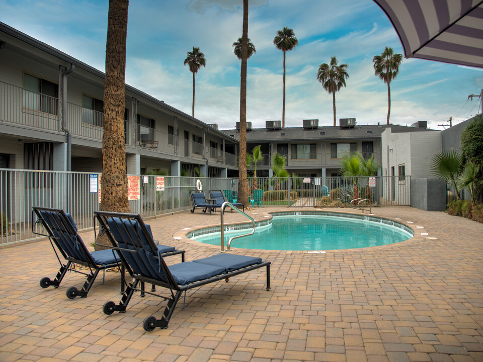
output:
[[[0,0],[0,21],[101,71],[105,70],[108,0]],[[184,60],[193,46],[206,58],[196,74],[195,117],[232,129],[239,121],[241,0],[131,0],[126,83],[191,115],[193,80]],[[384,12],[372,0],[250,0],[247,121],[264,128],[282,119],[283,53],[273,39],[293,29],[298,46],[286,53],[285,126],[304,119],[333,125],[332,95],[316,79],[336,56],[348,64],[346,87],[336,93],[336,117],[358,125],[386,123],[387,85],[372,58],[384,47],[404,55]],[[483,69],[406,59],[390,83],[390,123],[427,121],[443,129],[481,111]],[[338,121],[337,121],[338,122]]]

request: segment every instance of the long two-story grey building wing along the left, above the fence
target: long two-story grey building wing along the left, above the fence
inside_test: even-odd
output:
[[[126,84],[128,173],[237,173],[232,137]],[[100,172],[104,73],[0,23],[0,167]]]

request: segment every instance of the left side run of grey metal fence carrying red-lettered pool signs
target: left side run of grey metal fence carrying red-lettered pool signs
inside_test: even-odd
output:
[[[38,238],[32,234],[32,206],[64,209],[72,214],[79,230],[92,228],[100,208],[99,174],[87,172],[0,169],[0,245]],[[128,175],[138,199],[129,201],[131,212],[142,217],[191,209],[190,190],[197,177]],[[199,178],[208,190],[236,190],[238,180]],[[136,182],[137,185],[136,186]],[[35,222],[35,220],[34,220]]]

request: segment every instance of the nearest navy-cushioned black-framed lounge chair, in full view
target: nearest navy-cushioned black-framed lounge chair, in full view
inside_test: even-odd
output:
[[[94,212],[102,230],[117,250],[122,264],[128,270],[133,282],[128,286],[119,304],[108,301],[102,310],[110,315],[114,312],[124,313],[127,305],[140,282],[150,283],[169,289],[168,297],[158,296],[168,301],[161,319],[148,316],[144,319],[143,328],[152,331],[156,327],[168,328],[173,311],[183,292],[216,282],[235,275],[249,272],[263,266],[267,267],[267,290],[270,289],[270,261],[262,261],[259,257],[234,254],[216,254],[203,259],[168,265],[163,255],[157,253],[152,237],[140,215]]]

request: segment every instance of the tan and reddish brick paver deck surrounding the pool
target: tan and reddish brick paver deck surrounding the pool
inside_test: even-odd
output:
[[[248,213],[266,219],[275,210],[287,209]],[[158,298],[137,294],[126,313],[103,314],[104,302],[120,300],[119,274],[106,273],[104,285],[100,275],[88,298],[69,300],[65,291],[81,288],[82,276],[39,286],[58,270],[48,240],[1,248],[0,361],[483,361],[483,224],[409,207],[373,213],[401,219],[418,237],[325,254],[234,249],[272,261],[272,290],[265,268],[191,290],[169,328],[153,332],[142,321],[160,318]],[[240,217],[226,213],[225,222]],[[200,210],[146,220],[188,261],[218,248],[173,236],[219,221]]]

